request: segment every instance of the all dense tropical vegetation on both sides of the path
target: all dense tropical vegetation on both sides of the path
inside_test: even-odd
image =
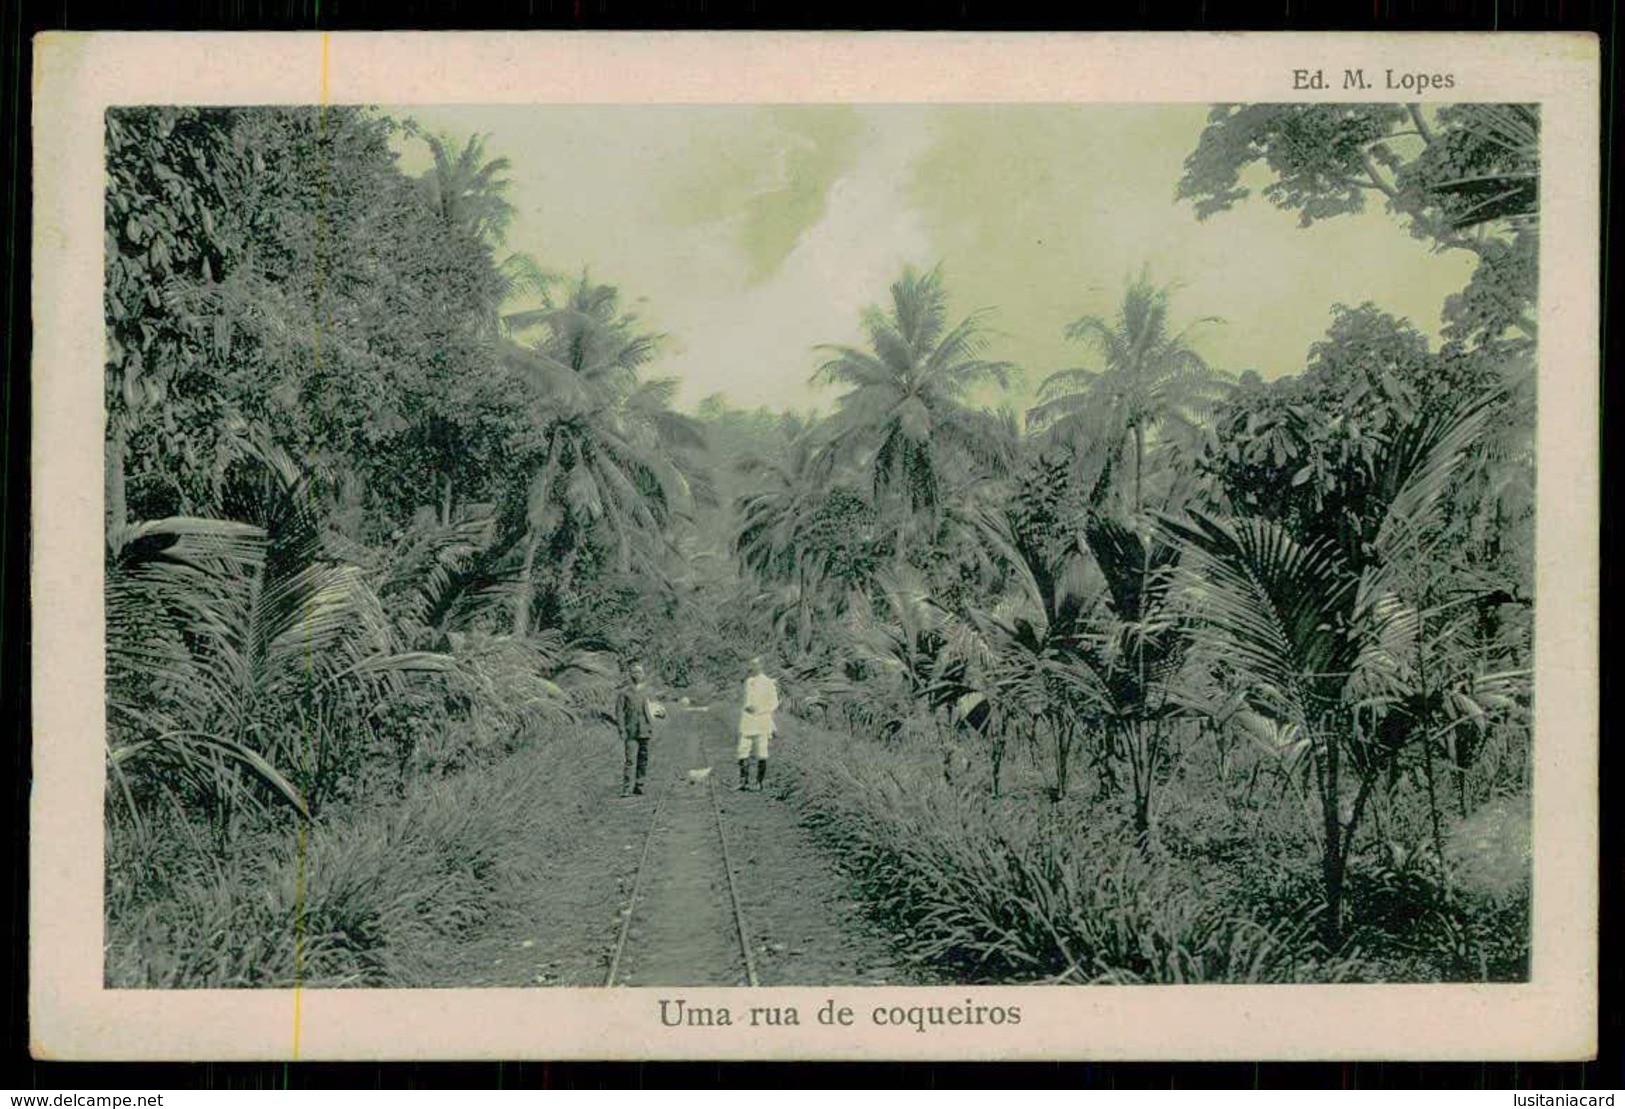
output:
[[[613,285],[505,252],[479,138],[110,112],[109,982],[445,981],[505,839],[580,820],[616,657],[707,699],[752,652],[931,972],[1523,977],[1536,151],[1519,107],[1225,106],[1186,161],[1198,218],[1261,163],[1472,252],[1438,345],[1336,306],[1237,376],[1141,273],[1017,413],[910,268],[829,415],[686,415]]]

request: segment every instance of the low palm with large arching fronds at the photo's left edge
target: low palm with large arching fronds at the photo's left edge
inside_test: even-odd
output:
[[[107,533],[112,777],[130,797],[135,768],[179,776],[223,837],[254,800],[229,771],[315,815],[401,672],[450,667],[398,650],[364,571],[328,553],[310,478],[275,447],[255,450],[229,475],[223,507],[239,519]]]

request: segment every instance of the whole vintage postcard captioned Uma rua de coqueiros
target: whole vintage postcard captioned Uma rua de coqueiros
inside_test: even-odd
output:
[[[36,59],[39,1057],[1594,1052],[1594,37]]]

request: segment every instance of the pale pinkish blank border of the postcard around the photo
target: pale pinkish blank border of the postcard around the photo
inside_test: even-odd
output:
[[[46,34],[34,76],[31,1041],[41,1059],[1584,1059],[1597,987],[1599,50],[1589,34]],[[1534,953],[1523,985],[977,987],[1019,1026],[666,1029],[658,990],[102,987],[102,112],[288,102],[1216,102],[1292,68],[1542,106]],[[1326,93],[1316,99],[1375,99]],[[1398,98],[1396,98],[1398,99]],[[671,990],[665,992],[671,995]],[[956,1003],[962,987],[681,992]]]

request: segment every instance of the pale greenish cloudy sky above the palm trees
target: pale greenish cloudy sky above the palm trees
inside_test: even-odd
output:
[[[1380,203],[1300,228],[1254,195],[1198,221],[1175,200],[1206,107],[499,106],[388,109],[512,161],[507,250],[619,286],[666,341],[678,403],[827,408],[821,343],[860,343],[904,265],[941,265],[954,317],[986,309],[1008,403],[1098,366],[1063,337],[1113,315],[1149,267],[1212,364],[1297,372],[1331,306],[1373,301],[1436,335],[1472,259],[1436,254]],[[429,164],[403,140],[401,164]],[[1254,184],[1263,182],[1258,177]],[[1246,179],[1243,179],[1246,184]]]

